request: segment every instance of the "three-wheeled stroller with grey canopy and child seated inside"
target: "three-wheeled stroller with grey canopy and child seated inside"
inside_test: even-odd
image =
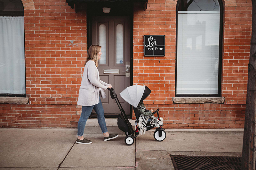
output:
[[[164,131],[163,128],[163,119],[159,117],[159,109],[152,113],[153,110],[148,112],[146,107],[143,107],[143,100],[145,100],[151,93],[151,90],[147,86],[132,85],[130,87],[127,87],[126,89],[124,89],[123,92],[120,93],[120,96],[126,102],[133,106],[136,119],[139,121],[139,126],[136,126],[135,130],[133,130],[132,125],[124,112],[124,109],[122,108],[117,98],[115,90],[113,88],[108,88],[108,90],[110,91],[111,98],[116,100],[116,103],[121,111],[121,114],[119,114],[117,118],[117,125],[119,129],[125,132],[125,144],[132,145],[134,143],[134,138],[136,138],[139,135],[139,133],[145,133],[145,131],[148,131],[154,127],[157,127],[156,131],[154,132],[154,138],[156,139],[156,141],[163,141],[165,139],[166,132]],[[141,105],[141,109],[142,107],[146,109],[144,109],[144,113],[146,113],[146,115],[143,115],[143,111],[141,112],[139,110],[139,103]],[[157,113],[157,118],[153,116],[155,113]]]

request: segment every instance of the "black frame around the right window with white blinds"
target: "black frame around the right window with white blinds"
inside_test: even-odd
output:
[[[178,51],[178,7],[181,0],[177,1],[176,5],[176,46],[175,46],[175,97],[221,97],[221,79],[222,79],[222,54],[223,54],[223,3],[217,0],[220,4],[220,37],[219,37],[219,73],[218,73],[218,94],[177,94],[177,51]]]

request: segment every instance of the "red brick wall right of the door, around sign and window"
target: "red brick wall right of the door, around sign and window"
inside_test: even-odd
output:
[[[223,1],[221,96],[224,104],[172,104],[175,97],[176,5],[174,0],[149,0],[148,9],[134,5],[133,83],[147,85],[148,108],[160,108],[165,127],[243,128],[250,55],[252,4]],[[165,56],[144,57],[143,35],[165,35]],[[134,117],[134,115],[133,115]]]

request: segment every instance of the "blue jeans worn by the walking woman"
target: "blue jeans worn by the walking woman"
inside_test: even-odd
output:
[[[97,114],[98,123],[100,125],[100,129],[101,129],[102,133],[108,132],[106,122],[105,122],[104,109],[102,107],[101,100],[100,100],[100,102],[96,105],[82,106],[82,113],[80,115],[80,119],[77,124],[77,135],[80,137],[84,135],[85,124],[86,124],[88,117],[92,113],[92,109]]]

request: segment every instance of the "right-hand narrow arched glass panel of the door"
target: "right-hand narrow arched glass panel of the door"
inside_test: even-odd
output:
[[[116,26],[116,64],[124,63],[124,26]]]

